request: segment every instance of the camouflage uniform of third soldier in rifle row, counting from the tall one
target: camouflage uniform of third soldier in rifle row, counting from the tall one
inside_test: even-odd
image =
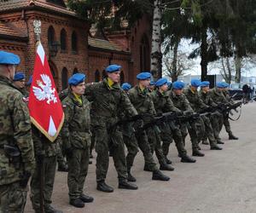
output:
[[[164,112],[181,112],[177,107],[174,107],[169,95],[167,93],[161,94],[158,89],[152,92],[152,100],[157,114]],[[178,155],[183,158],[187,151],[183,147],[183,135],[179,130],[179,124],[173,121],[168,121],[160,124],[161,139],[163,141],[163,153],[166,156],[169,152],[169,146],[172,138],[175,141]]]

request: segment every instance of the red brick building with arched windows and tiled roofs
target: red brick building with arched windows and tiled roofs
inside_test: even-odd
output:
[[[41,20],[41,43],[57,88],[67,88],[74,72],[99,81],[104,67],[122,66],[121,81],[136,82],[137,72],[150,67],[150,21],[146,16],[131,29],[92,37],[90,25],[67,9],[63,0],[0,0],[0,49],[20,55],[17,70],[32,74],[36,36],[33,21]]]

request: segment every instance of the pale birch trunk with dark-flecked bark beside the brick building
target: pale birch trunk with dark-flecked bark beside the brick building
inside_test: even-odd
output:
[[[154,80],[162,76],[162,53],[160,49],[161,36],[160,36],[160,10],[161,0],[154,0],[154,16],[153,16],[153,32],[152,32],[152,50],[151,50],[151,72]]]

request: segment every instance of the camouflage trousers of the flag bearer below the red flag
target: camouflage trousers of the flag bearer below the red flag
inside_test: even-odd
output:
[[[41,176],[40,168],[41,164],[37,162],[36,170],[32,176],[30,182],[31,195],[30,199],[32,201],[32,207],[34,210],[40,210],[40,179],[43,178],[44,181],[44,208],[45,206],[51,204],[51,195],[53,192],[54,182],[55,182],[55,170],[56,170],[57,157],[44,157],[44,177]]]

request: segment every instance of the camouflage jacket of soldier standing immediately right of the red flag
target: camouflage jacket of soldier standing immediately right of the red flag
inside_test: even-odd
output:
[[[81,96],[82,104],[70,91],[62,101],[65,114],[61,130],[61,140],[64,148],[86,148],[90,146],[90,102]]]

